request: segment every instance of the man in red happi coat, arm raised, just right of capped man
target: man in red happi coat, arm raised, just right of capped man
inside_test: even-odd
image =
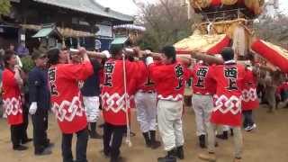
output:
[[[71,147],[73,134],[76,133],[76,161],[86,162],[88,130],[78,82],[91,76],[93,67],[85,49],[79,50],[78,54],[83,58],[79,64],[67,64],[66,50],[50,49],[47,54],[52,111],[62,131],[63,161],[73,161]]]

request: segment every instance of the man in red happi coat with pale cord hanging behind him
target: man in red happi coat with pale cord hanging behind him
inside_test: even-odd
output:
[[[105,156],[111,157],[111,162],[118,162],[123,159],[120,157],[120,148],[123,134],[129,126],[130,101],[137,92],[139,81],[144,82],[140,71],[145,68],[145,64],[143,61],[127,59],[123,61],[121,45],[112,45],[110,50],[112,58],[105,62],[103,68],[104,80],[101,94],[105,122],[103,152]],[[123,66],[125,67],[125,75]],[[124,82],[126,82],[126,92]]]

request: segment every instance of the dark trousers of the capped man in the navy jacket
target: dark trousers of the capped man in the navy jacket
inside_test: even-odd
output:
[[[32,115],[32,124],[35,153],[40,153],[49,144],[47,138],[48,109],[38,108],[36,113]]]

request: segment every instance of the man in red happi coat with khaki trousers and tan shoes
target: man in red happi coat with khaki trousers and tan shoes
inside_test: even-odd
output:
[[[221,52],[223,65],[210,68],[208,77],[216,82],[214,108],[208,125],[208,152],[200,154],[203,160],[216,161],[215,130],[217,125],[228,125],[234,131],[234,162],[241,161],[242,154],[242,90],[246,82],[247,72],[244,66],[234,60],[234,50],[224,48]]]

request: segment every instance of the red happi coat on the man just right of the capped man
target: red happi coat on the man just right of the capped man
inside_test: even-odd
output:
[[[85,80],[93,72],[88,61],[49,67],[52,111],[55,112],[60,130],[64,133],[75,133],[87,126],[78,82]]]

